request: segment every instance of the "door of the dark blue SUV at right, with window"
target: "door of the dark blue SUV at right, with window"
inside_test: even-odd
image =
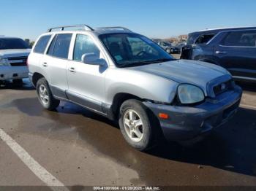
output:
[[[234,77],[256,78],[256,30],[227,32],[214,54]]]

